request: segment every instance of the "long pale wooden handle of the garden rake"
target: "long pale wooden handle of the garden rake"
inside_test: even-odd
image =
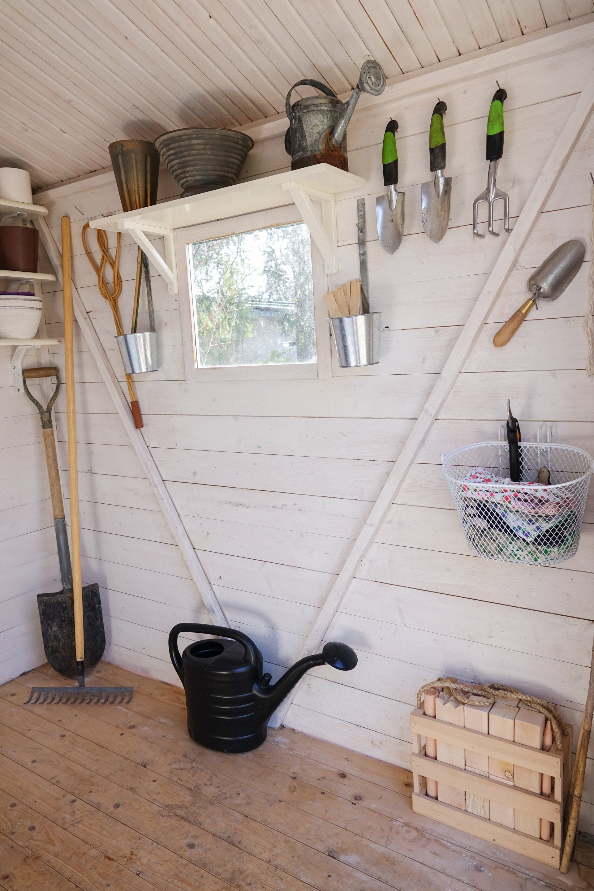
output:
[[[74,392],[74,340],[72,330],[72,269],[70,218],[61,218],[61,268],[64,297],[64,353],[66,364],[66,413],[68,419],[68,473],[70,483],[70,552],[74,594],[74,638],[78,680],[84,679],[85,626],[83,583],[80,574],[80,529],[78,526],[77,407]]]

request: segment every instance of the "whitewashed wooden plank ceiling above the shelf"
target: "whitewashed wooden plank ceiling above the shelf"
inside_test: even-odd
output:
[[[34,184],[109,166],[115,139],[240,127],[316,78],[345,93],[594,12],[594,0],[3,0],[0,163]]]

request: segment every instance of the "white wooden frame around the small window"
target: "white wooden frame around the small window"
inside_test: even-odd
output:
[[[190,285],[190,257],[188,245],[196,241],[224,238],[225,235],[254,232],[271,226],[303,223],[294,204],[281,208],[256,211],[241,217],[214,220],[208,223],[175,230],[175,255],[178,269],[180,314],[182,317],[183,364],[185,380],[205,383],[208,380],[319,380],[332,376],[330,325],[328,309],[322,299],[328,291],[328,276],[324,261],[313,240],[313,319],[316,361],[311,363],[279,363],[267,365],[229,365],[202,368],[196,365],[197,347]]]

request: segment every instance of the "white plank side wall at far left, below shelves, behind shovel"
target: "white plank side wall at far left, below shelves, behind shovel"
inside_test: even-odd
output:
[[[45,660],[36,595],[60,588],[41,424],[12,392],[13,352],[0,347],[0,683]],[[37,364],[34,351],[23,364]]]

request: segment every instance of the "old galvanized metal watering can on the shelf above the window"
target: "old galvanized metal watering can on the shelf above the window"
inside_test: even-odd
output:
[[[314,86],[323,95],[307,96],[291,105],[291,93],[296,86]],[[374,59],[363,62],[359,82],[348,102],[340,102],[334,90],[319,80],[297,80],[297,84],[291,86],[285,102],[289,118],[285,149],[291,156],[291,170],[312,164],[331,164],[348,170],[346,127],[354,106],[362,93],[378,96],[385,88],[386,75]]]

